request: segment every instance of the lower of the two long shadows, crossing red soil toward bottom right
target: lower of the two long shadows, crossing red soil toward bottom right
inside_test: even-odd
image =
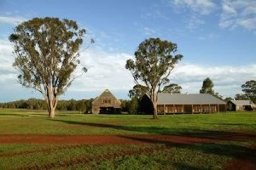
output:
[[[201,151],[207,154],[214,154],[218,156],[228,156],[236,158],[243,165],[242,169],[256,168],[256,146],[245,147],[236,144],[221,144],[221,143],[183,143],[183,141],[175,140],[175,142],[161,140],[161,139],[148,139],[143,136],[127,136],[119,135],[124,139],[132,139],[148,144],[165,144],[168,147],[176,147],[181,149]],[[188,136],[179,135],[179,137],[188,138]],[[174,137],[175,138],[175,137]],[[250,168],[247,168],[249,164]],[[187,167],[184,164],[177,164],[178,169],[196,169],[194,167]],[[235,164],[236,166],[236,164]],[[183,167],[183,168],[181,168]]]

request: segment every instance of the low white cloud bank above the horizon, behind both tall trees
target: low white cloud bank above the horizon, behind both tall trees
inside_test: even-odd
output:
[[[0,59],[2,61],[0,63],[0,94],[17,91],[23,95],[24,93],[21,92],[25,89],[16,82],[17,72],[12,67],[14,57],[11,51],[10,42],[0,41]],[[79,93],[101,94],[105,88],[127,94],[133,87],[131,73],[125,69],[126,60],[132,59],[132,55],[112,54],[88,48],[81,53],[80,57],[81,66],[86,66],[88,72],[73,82],[73,85],[67,90],[68,94],[76,94],[78,98],[81,98]],[[203,80],[210,77],[215,84],[216,92],[225,97],[234,97],[235,94],[241,93],[241,84],[255,79],[255,72],[255,64],[212,66],[180,63],[172,72],[171,81],[181,85],[183,93],[195,94],[201,89]],[[78,68],[77,75],[80,73],[81,68]],[[23,97],[16,96],[18,99]],[[73,96],[73,98],[76,97]],[[120,98],[126,98],[126,96]]]

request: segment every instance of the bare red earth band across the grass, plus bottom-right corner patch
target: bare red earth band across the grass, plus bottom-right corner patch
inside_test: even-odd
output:
[[[192,133],[182,135],[49,135],[0,134],[0,144],[218,144],[222,141],[256,141],[256,133]],[[253,145],[252,150],[256,149]],[[255,153],[255,151],[252,151]],[[128,154],[129,155],[129,154]],[[1,155],[0,155],[1,156]],[[236,156],[225,169],[256,169],[256,153]]]

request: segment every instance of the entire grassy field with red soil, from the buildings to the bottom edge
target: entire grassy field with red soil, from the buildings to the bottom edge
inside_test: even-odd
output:
[[[40,142],[61,135],[80,142]],[[121,142],[87,144],[86,138]],[[255,168],[255,159],[256,112],[153,120],[65,111],[49,119],[46,111],[0,110],[0,169],[242,169]]]

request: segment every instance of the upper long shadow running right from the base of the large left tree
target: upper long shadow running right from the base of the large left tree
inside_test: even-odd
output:
[[[56,120],[56,119],[53,119],[52,121],[65,122],[67,124],[72,124],[72,125],[111,128],[115,130],[124,130],[124,131],[130,131],[135,133],[186,136],[189,138],[215,139],[220,141],[252,140],[256,142],[256,133],[247,133],[247,132],[244,132],[244,133],[225,132],[225,131],[201,130],[201,129],[191,129],[191,128],[168,128],[168,127],[154,127],[154,126],[143,127],[143,126],[118,125],[118,124],[112,124],[112,123],[79,122],[79,121]]]

